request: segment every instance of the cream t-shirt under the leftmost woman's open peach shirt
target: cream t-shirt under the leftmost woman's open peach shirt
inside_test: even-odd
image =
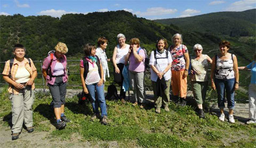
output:
[[[17,83],[26,83],[30,79],[30,73],[25,68],[18,68],[17,73],[15,75],[15,82]]]

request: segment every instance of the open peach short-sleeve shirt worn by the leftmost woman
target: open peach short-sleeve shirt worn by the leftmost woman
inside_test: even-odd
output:
[[[31,67],[29,65],[29,61],[26,58],[24,60],[25,60],[25,68],[28,70],[28,72],[30,73],[30,77],[31,77],[32,73],[34,71],[36,71],[36,67],[35,67],[35,65],[34,65],[34,63],[33,63],[33,61],[31,59],[30,59]],[[10,60],[8,60],[5,63],[4,70],[3,70],[2,74],[6,75],[6,76],[9,76],[9,73],[11,71],[11,79],[15,81],[16,80],[15,75],[16,75],[16,73],[18,71],[18,68],[19,68],[18,61],[14,58],[12,69],[10,70]],[[31,86],[31,89],[35,89],[35,83],[33,83],[33,85]],[[9,84],[8,92],[11,93],[11,94],[12,94],[12,92],[14,94],[19,94],[20,89],[15,88],[15,87],[14,87],[14,89],[12,89],[12,85]]]

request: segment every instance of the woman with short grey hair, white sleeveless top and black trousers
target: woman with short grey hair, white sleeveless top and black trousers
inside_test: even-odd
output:
[[[125,36],[123,34],[117,35],[117,46],[114,48],[113,52],[113,64],[114,64],[114,81],[121,86],[120,98],[121,102],[125,103],[125,91],[122,88],[124,77],[122,71],[125,63],[125,55],[129,52],[130,45],[125,44]]]

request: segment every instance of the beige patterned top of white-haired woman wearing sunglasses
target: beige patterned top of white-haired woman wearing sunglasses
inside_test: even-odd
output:
[[[207,81],[207,55],[202,54],[202,57],[198,60],[196,60],[196,57],[191,58],[191,69],[195,72],[194,75],[190,75],[191,81]]]

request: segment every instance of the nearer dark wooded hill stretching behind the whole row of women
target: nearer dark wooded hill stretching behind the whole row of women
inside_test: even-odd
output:
[[[243,44],[243,40],[241,41],[240,38],[217,37],[208,32],[195,31],[192,28],[179,28],[173,24],[165,25],[137,18],[126,11],[94,12],[86,15],[65,14],[61,18],[23,17],[20,14],[0,15],[0,20],[0,61],[13,57],[12,47],[16,43],[25,45],[26,55],[31,59],[43,60],[47,52],[53,50],[58,42],[67,44],[68,59],[78,60],[82,57],[83,45],[97,43],[100,36],[108,38],[106,53],[108,57],[111,57],[117,44],[116,36],[119,33],[126,36],[127,42],[132,37],[138,37],[148,52],[155,49],[158,38],[164,37],[171,44],[171,37],[180,33],[183,35],[183,44],[188,47],[190,55],[194,54],[193,45],[199,43],[204,47],[204,54],[213,56],[218,52],[220,40],[228,39],[233,45],[230,52],[239,56],[238,62],[242,65],[250,62],[253,50],[255,51],[255,43]],[[247,39],[245,41],[247,42]],[[249,54],[245,54],[243,50]],[[0,70],[2,68],[1,65]]]

